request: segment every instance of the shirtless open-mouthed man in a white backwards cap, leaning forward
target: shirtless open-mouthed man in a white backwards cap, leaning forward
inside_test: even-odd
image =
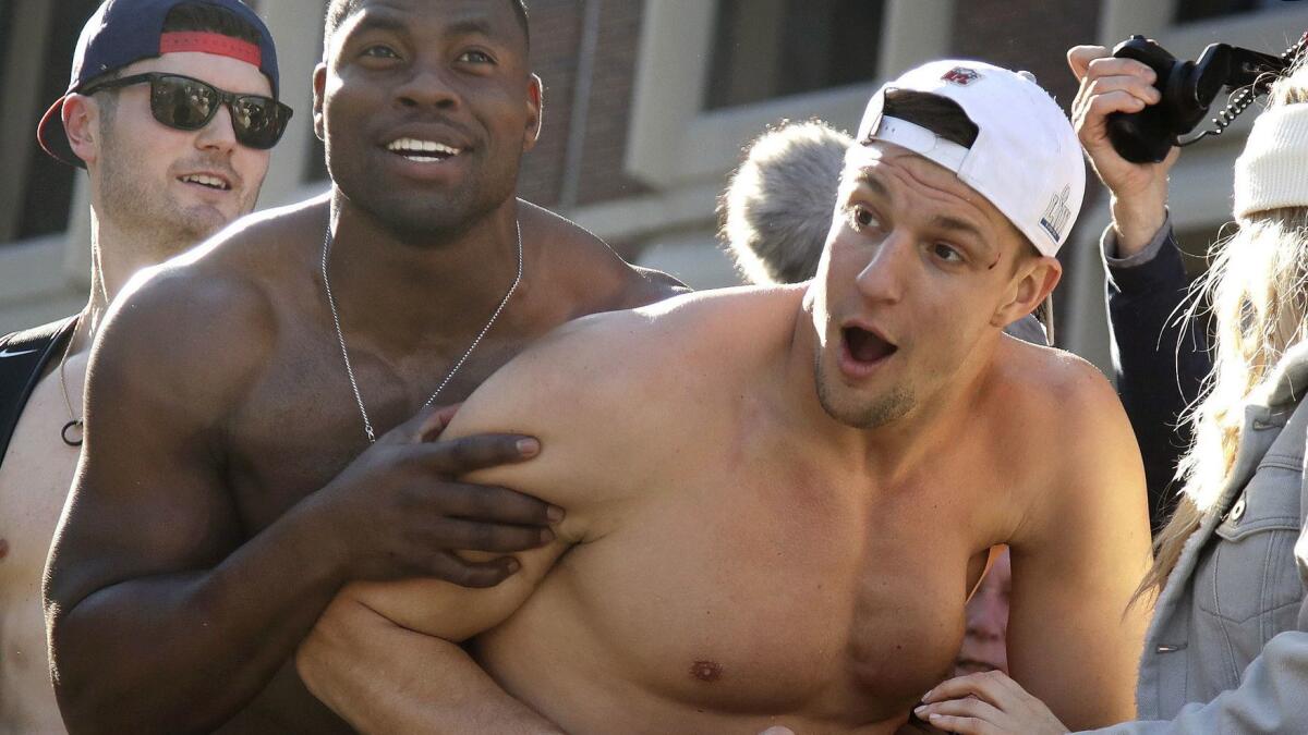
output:
[[[1029,75],[889,82],[818,277],[587,316],[501,369],[447,432],[539,437],[471,479],[565,507],[557,539],[494,589],[347,587],[306,683],[364,731],[439,731],[484,696],[450,674],[472,655],[542,731],[893,732],[1008,544],[1012,676],[1069,726],[1130,715],[1130,426],[1092,366],[1002,332],[1057,284],[1083,182]]]

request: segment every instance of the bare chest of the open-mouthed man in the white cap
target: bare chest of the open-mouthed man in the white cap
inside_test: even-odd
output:
[[[695,706],[855,721],[901,714],[948,672],[988,541],[943,492],[878,497],[803,463],[684,467],[569,552],[489,637],[492,659],[547,633]]]

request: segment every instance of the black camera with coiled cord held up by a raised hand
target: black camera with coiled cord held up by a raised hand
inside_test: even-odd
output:
[[[1260,54],[1226,43],[1214,43],[1196,61],[1179,60],[1158,43],[1133,35],[1113,48],[1113,56],[1135,59],[1154,69],[1154,86],[1163,99],[1139,112],[1113,112],[1108,116],[1108,139],[1113,148],[1135,163],[1159,162],[1173,145],[1189,145],[1206,135],[1220,135],[1254,98],[1299,56],[1308,34],[1281,56]],[[1233,94],[1226,110],[1213,123],[1213,131],[1185,143],[1180,136],[1194,129],[1222,90]]]

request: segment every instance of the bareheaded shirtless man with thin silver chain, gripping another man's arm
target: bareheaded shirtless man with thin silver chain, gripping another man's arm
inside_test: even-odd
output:
[[[675,290],[515,197],[542,109],[521,0],[332,0],[324,46],[331,194],[156,269],[97,343],[47,582],[73,730],[344,728],[290,664],[344,583],[493,586],[514,560],[453,549],[539,547],[559,519],[456,480],[532,456],[534,439],[437,441],[450,412],[424,407],[462,400],[568,319]],[[204,89],[150,86],[118,93],[161,97],[174,123],[205,114],[178,109]],[[453,687],[484,680],[462,663],[441,672]],[[480,725],[451,727],[509,728]]]

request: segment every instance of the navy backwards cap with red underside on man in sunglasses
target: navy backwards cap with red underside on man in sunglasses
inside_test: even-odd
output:
[[[224,8],[250,24],[259,43],[249,43],[215,31],[164,31],[169,12],[183,3]],[[46,110],[37,124],[37,143],[55,158],[82,166],[64,135],[63,107],[69,94],[81,92],[86,82],[164,54],[199,51],[230,56],[258,67],[277,97],[277,50],[272,34],[259,16],[241,0],[105,0],[82,26],[73,52],[73,69],[68,92]]]

